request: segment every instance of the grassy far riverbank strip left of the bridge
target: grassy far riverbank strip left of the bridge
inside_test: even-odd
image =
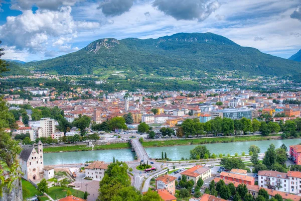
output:
[[[105,149],[126,149],[130,148],[129,143],[116,143],[110,145],[97,145],[94,146],[94,150],[105,150]],[[91,151],[91,147],[87,147],[87,145],[73,145],[73,146],[60,146],[60,147],[45,147],[43,148],[44,153],[50,152],[68,152],[68,151]]]

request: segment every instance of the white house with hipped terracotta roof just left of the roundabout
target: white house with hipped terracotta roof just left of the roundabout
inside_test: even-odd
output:
[[[94,161],[87,167],[85,167],[86,177],[101,180],[104,176],[104,171],[108,169],[108,164],[103,161]]]

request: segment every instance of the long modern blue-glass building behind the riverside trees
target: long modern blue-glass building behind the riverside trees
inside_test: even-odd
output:
[[[233,109],[224,109],[218,111],[210,111],[209,115],[212,118],[221,117],[221,118],[230,118],[232,120],[241,119],[241,118],[252,118],[252,111],[248,108],[233,108]]]

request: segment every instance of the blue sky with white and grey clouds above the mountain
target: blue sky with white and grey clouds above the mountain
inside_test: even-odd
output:
[[[44,60],[101,38],[222,35],[289,58],[301,49],[301,0],[0,0],[2,59]]]

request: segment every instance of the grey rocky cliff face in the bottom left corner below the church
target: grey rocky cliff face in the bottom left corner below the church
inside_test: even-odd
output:
[[[13,182],[13,189],[10,192],[7,188],[3,190],[0,201],[23,201],[21,178]]]

